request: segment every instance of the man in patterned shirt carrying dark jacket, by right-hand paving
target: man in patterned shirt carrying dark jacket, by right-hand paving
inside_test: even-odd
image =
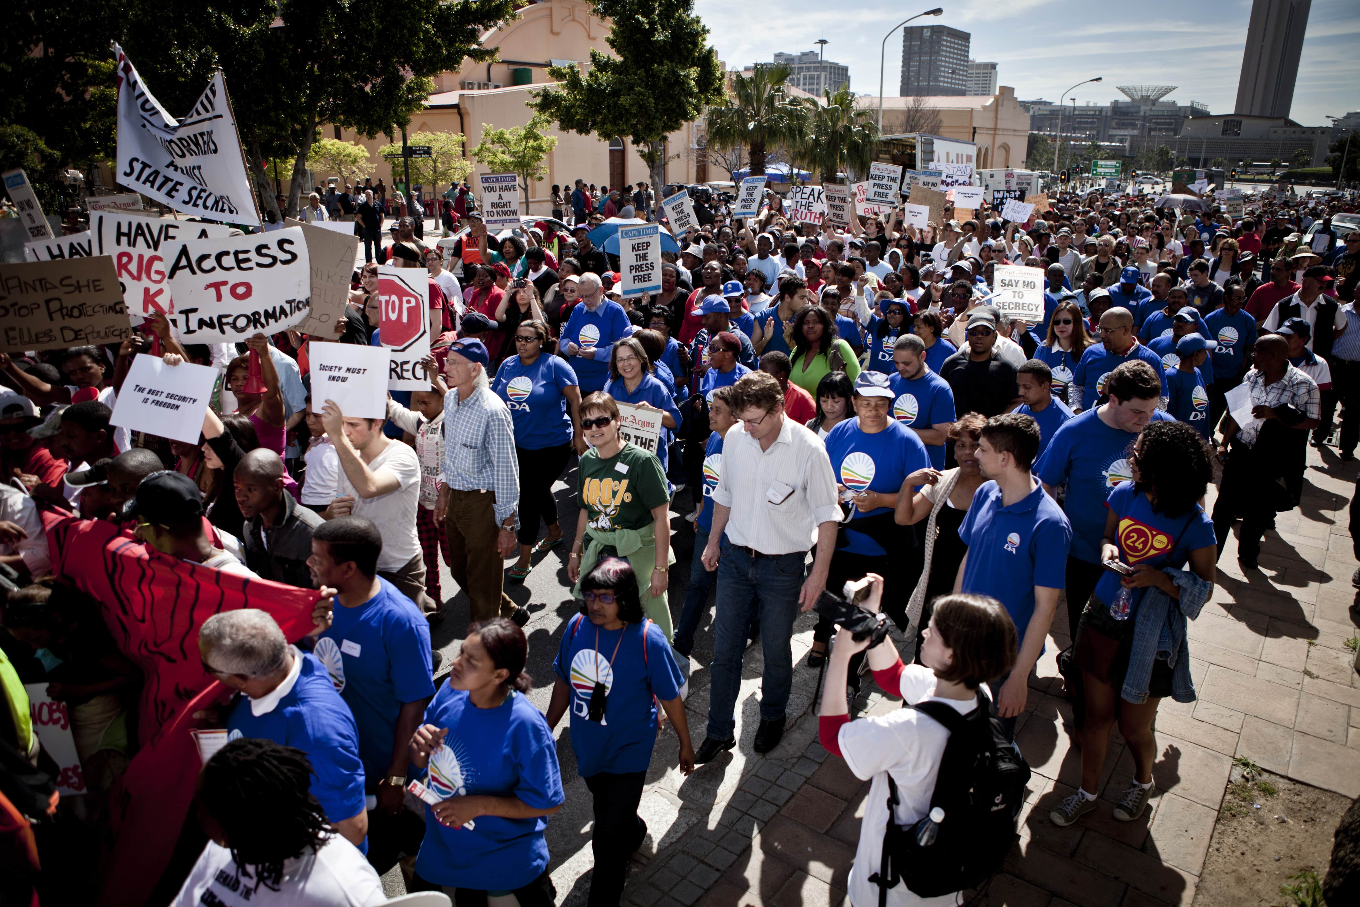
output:
[[[1240,517],[1238,563],[1257,568],[1261,537],[1274,528],[1276,513],[1293,510],[1303,495],[1308,432],[1318,427],[1322,396],[1318,385],[1289,364],[1289,343],[1280,335],[1257,340],[1255,369],[1242,386],[1251,393],[1251,424],[1223,419],[1219,461],[1223,481],[1213,504],[1219,555],[1232,524]]]

